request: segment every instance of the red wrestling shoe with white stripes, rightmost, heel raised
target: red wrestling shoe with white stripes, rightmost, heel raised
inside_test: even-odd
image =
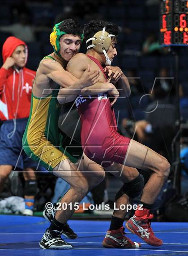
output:
[[[130,230],[133,234],[139,236],[145,243],[148,243],[153,246],[161,246],[162,240],[157,238],[150,226],[150,219],[154,216],[150,214],[145,218],[133,216],[128,220],[126,223],[126,227]]]

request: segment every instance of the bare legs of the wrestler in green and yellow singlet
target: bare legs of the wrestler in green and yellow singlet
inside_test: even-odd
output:
[[[92,167],[94,164],[95,168]],[[84,156],[84,160],[81,160],[79,169],[69,159],[65,159],[54,168],[53,174],[62,178],[71,186],[64,197],[61,198],[60,203],[64,202],[67,206],[70,203],[72,207],[56,212],[56,220],[60,223],[65,223],[72,216],[74,203],[79,203],[88,191],[99,184],[105,176],[104,170],[101,169],[100,165],[97,165],[86,156]],[[90,179],[92,181],[89,183]]]

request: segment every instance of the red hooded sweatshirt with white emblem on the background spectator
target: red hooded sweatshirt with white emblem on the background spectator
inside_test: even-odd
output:
[[[9,36],[3,45],[3,63],[13,54],[19,45],[27,46],[20,39]],[[0,119],[10,120],[13,118],[29,117],[31,89],[36,72],[26,67],[16,71],[13,67],[8,70],[0,68]]]

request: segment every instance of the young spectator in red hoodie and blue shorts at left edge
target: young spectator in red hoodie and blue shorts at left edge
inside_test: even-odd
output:
[[[0,68],[0,192],[12,170],[24,170],[24,215],[33,215],[37,191],[33,162],[22,150],[22,136],[30,113],[31,89],[35,73],[25,67],[27,45],[10,36],[3,45],[3,66]]]

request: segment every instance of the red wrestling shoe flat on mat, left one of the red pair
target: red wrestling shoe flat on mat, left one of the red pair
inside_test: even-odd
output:
[[[108,230],[103,240],[103,247],[107,248],[139,248],[140,243],[132,242],[129,238],[124,236],[124,227],[116,230]]]

